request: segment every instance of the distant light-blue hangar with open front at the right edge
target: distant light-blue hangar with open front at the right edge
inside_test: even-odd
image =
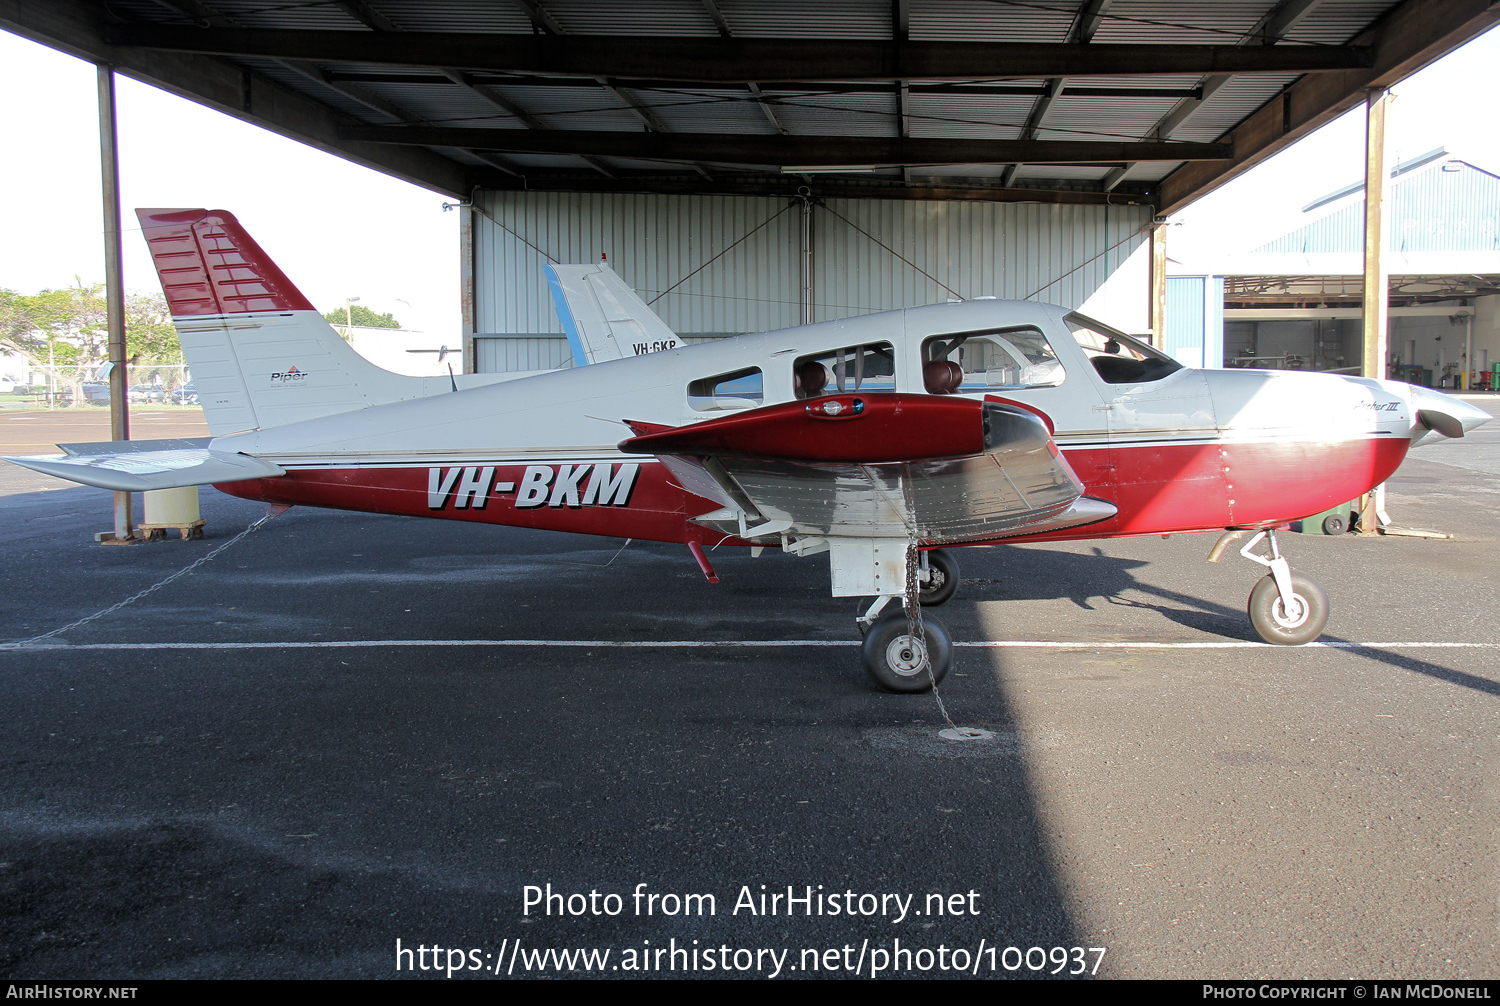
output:
[[[1236,249],[1230,238],[1212,252],[1174,258],[1162,348],[1184,363],[1184,351],[1197,352],[1204,342],[1222,348],[1222,355],[1203,357],[1209,366],[1358,373],[1364,189],[1356,181],[1312,199],[1298,225],[1254,247]],[[1492,390],[1500,177],[1437,147],[1390,171],[1388,199],[1390,321],[1382,376]],[[1206,304],[1222,309],[1204,313]]]

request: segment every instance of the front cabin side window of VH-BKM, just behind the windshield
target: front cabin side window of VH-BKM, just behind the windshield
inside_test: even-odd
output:
[[[922,385],[928,394],[1050,388],[1064,376],[1062,361],[1036,328],[966,331],[922,343]]]

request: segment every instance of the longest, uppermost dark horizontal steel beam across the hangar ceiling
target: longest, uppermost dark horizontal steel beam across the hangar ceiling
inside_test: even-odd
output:
[[[675,81],[912,81],[1161,73],[1329,73],[1362,70],[1371,52],[1340,45],[1080,45],[850,39],[480,34],[186,28],[118,24],[114,45],[214,55],[340,60],[567,76]]]

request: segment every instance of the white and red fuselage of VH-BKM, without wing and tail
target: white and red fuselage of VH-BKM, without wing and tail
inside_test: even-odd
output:
[[[894,373],[867,378],[861,393],[922,394],[934,337],[1012,330],[1044,333],[1056,354],[1047,379],[966,381],[954,394],[1042,415],[1084,495],[1118,508],[1101,523],[1014,541],[1274,526],[1384,481],[1425,432],[1412,388],[1396,382],[1192,369],[1142,382],[1113,373],[1112,382],[1064,309],[982,300],[740,336],[224,436],[216,447],[288,474],[219,489],[276,504],[720,543],[720,532],[693,523],[718,504],[682,489],[656,459],[621,453],[615,444],[630,436],[622,420],[684,426],[788,402],[800,397],[800,360],[854,345],[888,345],[892,357]],[[840,357],[838,366],[852,364]],[[746,370],[759,373],[735,378]]]

